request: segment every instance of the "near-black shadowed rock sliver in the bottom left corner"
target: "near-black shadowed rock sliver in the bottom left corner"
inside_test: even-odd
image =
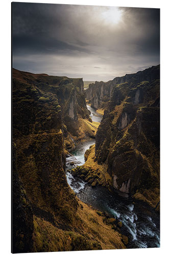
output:
[[[16,145],[14,143],[12,167],[12,252],[29,252],[33,244],[33,213],[26,191],[23,189],[18,176]]]

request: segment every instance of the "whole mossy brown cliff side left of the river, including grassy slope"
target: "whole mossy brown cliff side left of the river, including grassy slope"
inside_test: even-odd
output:
[[[82,79],[13,70],[12,96],[13,251],[125,248],[66,181],[66,150],[95,133]]]

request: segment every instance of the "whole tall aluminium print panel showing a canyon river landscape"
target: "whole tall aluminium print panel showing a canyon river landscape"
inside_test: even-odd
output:
[[[12,3],[12,252],[160,247],[160,9]]]

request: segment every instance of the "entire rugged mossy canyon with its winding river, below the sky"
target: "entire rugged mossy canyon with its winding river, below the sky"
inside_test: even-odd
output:
[[[13,69],[13,252],[160,246],[159,79]]]

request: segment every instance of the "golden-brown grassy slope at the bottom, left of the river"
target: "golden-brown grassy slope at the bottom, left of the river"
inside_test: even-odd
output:
[[[80,238],[86,240],[87,249],[96,249],[91,246],[94,243],[100,244],[103,250],[126,248],[122,242],[122,234],[103,222],[103,217],[96,210],[79,199],[78,201],[81,207],[78,208],[71,231],[62,230],[59,226],[34,216],[33,252],[70,251],[75,240],[81,249],[83,245],[79,244]]]

